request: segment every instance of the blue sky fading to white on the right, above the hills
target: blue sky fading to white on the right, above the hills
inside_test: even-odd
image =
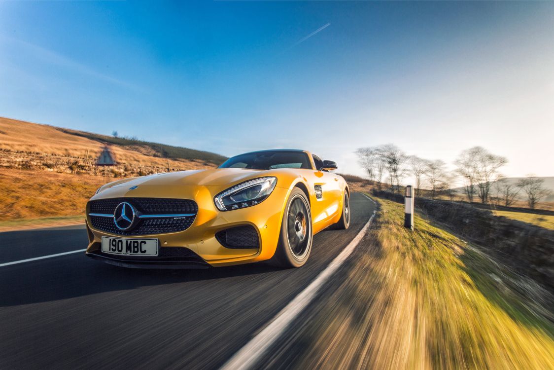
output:
[[[0,115],[358,174],[360,146],[482,145],[554,175],[554,2],[0,2]]]

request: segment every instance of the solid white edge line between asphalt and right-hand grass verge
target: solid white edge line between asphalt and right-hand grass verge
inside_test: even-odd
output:
[[[362,227],[362,230],[358,232],[356,237],[352,239],[345,249],[335,257],[335,259],[321,271],[320,274],[310,283],[303,291],[299,293],[288,305],[283,308],[266,326],[260,331],[254,338],[242,347],[229,361],[225,362],[222,370],[236,370],[236,369],[250,369],[253,368],[261,356],[269,349],[271,344],[283,334],[286,328],[293,322],[293,320],[304,310],[304,308],[315,298],[316,293],[321,286],[329,280],[331,275],[337,270],[338,267],[346,261],[347,257],[352,254],[358,243],[362,240],[362,237],[366,234],[367,229],[370,227],[371,221],[375,216],[375,212],[371,215],[367,223]]]

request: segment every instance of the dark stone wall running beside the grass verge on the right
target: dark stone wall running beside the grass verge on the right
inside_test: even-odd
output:
[[[404,202],[400,194],[387,191],[373,191],[373,194]],[[447,225],[456,234],[554,292],[554,231],[495,216],[490,211],[459,202],[416,198],[415,206],[419,214]]]

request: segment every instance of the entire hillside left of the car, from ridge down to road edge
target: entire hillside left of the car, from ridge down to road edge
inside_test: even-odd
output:
[[[95,166],[105,145],[118,163]],[[86,201],[120,176],[213,168],[206,151],[0,118],[0,230],[83,222]]]

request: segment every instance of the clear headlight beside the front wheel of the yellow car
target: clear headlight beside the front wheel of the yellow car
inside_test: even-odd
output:
[[[277,178],[266,177],[245,181],[220,192],[214,203],[220,211],[250,207],[263,202],[275,189]]]

